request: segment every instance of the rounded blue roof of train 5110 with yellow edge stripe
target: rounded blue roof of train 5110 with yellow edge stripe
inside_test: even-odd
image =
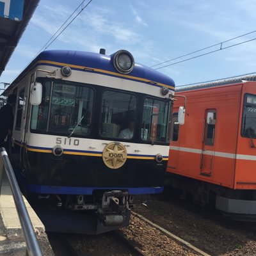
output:
[[[157,70],[149,68],[145,65],[135,63],[134,68],[129,74],[120,74],[116,71],[113,64],[113,56],[93,52],[84,51],[65,51],[65,50],[49,50],[44,51],[36,56],[35,60],[26,67],[26,69],[15,79],[19,81],[31,68],[37,65],[54,65],[55,67],[63,67],[69,65],[74,70],[83,70],[84,72],[95,72],[104,74],[106,76],[123,77],[124,79],[131,79],[148,84],[161,84],[166,85],[170,90],[174,90],[175,83],[173,79]],[[110,64],[110,65],[109,65]],[[91,69],[90,69],[91,68]],[[93,68],[93,70],[92,70]],[[15,83],[15,81],[13,81]]]

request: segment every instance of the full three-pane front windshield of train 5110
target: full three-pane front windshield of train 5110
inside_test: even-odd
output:
[[[102,138],[168,143],[168,100],[109,88],[98,92],[86,84],[42,84],[42,103],[31,113],[32,132],[86,138],[95,122]]]

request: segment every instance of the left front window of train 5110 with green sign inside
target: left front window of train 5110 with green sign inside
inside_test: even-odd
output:
[[[76,135],[90,132],[93,90],[86,86],[54,83],[49,131]]]

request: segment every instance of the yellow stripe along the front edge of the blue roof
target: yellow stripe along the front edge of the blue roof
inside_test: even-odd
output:
[[[125,74],[119,74],[119,73],[116,73],[116,72],[111,72],[111,71],[104,70],[104,69],[99,69],[99,68],[83,67],[83,66],[67,64],[67,63],[62,63],[62,62],[56,62],[56,61],[49,61],[49,60],[40,60],[40,61],[38,61],[38,63],[49,63],[49,64],[54,64],[54,65],[68,66],[68,67],[73,67],[73,68],[79,68],[79,69],[82,69],[82,70],[83,69],[86,70],[86,68],[88,68],[89,70],[93,69],[93,70],[95,70],[97,72],[102,72],[102,73],[111,74],[111,75],[120,76],[120,77],[126,77],[126,78],[130,78],[130,79],[136,79],[136,80],[139,80],[139,81],[147,82],[149,84],[156,83],[159,86],[166,86],[166,87],[174,90],[173,86],[170,86],[170,85],[167,85],[167,84],[157,83],[155,81],[150,81],[150,80],[145,79],[145,78],[136,77],[136,76],[128,76],[128,75],[125,75]]]

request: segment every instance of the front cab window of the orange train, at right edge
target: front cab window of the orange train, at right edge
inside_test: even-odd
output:
[[[241,135],[256,138],[256,95],[244,95]]]

